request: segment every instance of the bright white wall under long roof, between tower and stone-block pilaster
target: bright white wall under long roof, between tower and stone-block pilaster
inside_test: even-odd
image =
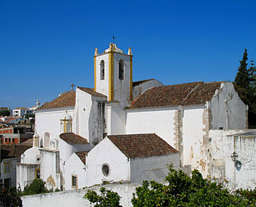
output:
[[[174,145],[174,109],[127,109],[126,134],[156,133]]]

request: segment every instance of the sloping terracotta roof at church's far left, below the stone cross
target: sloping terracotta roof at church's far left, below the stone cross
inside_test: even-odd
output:
[[[55,98],[53,101],[46,103],[40,109],[54,109],[65,106],[73,106],[75,104],[75,91],[69,91],[66,94],[62,94],[58,98]]]

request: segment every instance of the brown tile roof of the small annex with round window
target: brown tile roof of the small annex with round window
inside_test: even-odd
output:
[[[128,158],[152,157],[178,153],[176,149],[155,133],[110,135],[108,138]]]

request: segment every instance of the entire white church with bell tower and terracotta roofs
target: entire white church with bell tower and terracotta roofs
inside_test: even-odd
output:
[[[216,153],[214,137],[247,128],[248,108],[232,83],[164,86],[132,77],[131,49],[125,54],[114,43],[102,54],[95,49],[94,89],[72,88],[36,110],[34,145],[18,163],[17,186],[34,178],[62,190],[162,181],[171,163],[225,177],[233,148]]]

